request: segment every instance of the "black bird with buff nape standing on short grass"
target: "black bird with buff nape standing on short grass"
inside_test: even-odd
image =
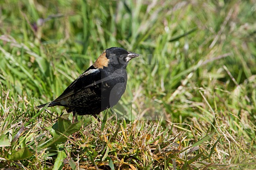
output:
[[[120,47],[105,49],[87,70],[75,79],[54,101],[36,106],[64,106],[75,115],[93,115],[107,110],[121,99],[127,84],[126,67],[139,54]]]

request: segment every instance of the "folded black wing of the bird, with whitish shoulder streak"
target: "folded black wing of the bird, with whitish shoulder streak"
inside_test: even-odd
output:
[[[57,97],[54,101],[59,101],[65,99],[74,93],[77,93],[83,88],[93,86],[101,82],[101,71],[94,68],[93,66],[89,67],[85,72],[83,72],[76,80],[74,80],[63,93]],[[54,102],[52,101],[52,102]]]

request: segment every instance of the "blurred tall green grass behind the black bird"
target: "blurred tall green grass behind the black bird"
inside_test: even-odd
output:
[[[175,123],[175,132],[189,130],[191,141],[217,129],[212,139],[229,136],[225,153],[239,150],[237,141],[244,149],[216,155],[215,162],[253,160],[255,11],[255,0],[2,0],[6,127],[36,115],[34,106],[58,97],[104,49],[117,46],[141,55],[128,65],[126,92],[109,116]],[[62,112],[49,108],[40,119],[52,122]],[[225,145],[230,141],[238,148]]]

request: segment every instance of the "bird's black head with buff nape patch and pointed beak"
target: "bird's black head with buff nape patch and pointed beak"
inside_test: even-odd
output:
[[[139,54],[126,51],[120,47],[111,47],[98,57],[93,66],[98,69],[104,67],[126,68],[128,62]]]

